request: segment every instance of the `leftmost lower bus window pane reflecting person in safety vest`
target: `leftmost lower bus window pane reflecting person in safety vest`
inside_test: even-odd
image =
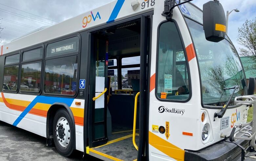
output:
[[[17,90],[19,66],[5,67],[3,90]]]

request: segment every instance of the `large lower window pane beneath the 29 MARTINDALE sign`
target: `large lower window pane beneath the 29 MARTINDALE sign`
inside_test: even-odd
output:
[[[46,60],[44,92],[50,94],[75,95],[78,56],[67,56]]]

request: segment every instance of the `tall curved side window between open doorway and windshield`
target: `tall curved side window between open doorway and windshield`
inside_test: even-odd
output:
[[[160,24],[157,66],[157,97],[186,101],[189,78],[181,37],[174,22]]]

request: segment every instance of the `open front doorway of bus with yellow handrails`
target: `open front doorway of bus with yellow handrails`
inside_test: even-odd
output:
[[[145,154],[149,27],[141,16],[91,33],[90,155],[133,161]]]

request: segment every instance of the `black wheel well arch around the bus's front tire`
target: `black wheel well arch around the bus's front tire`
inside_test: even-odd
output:
[[[74,116],[73,116],[73,112],[71,111],[71,109],[69,108],[68,105],[63,104],[63,103],[54,103],[48,110],[47,112],[47,119],[46,119],[46,138],[47,138],[47,146],[48,145],[52,145],[53,144],[53,118],[55,113],[57,112],[58,109],[60,108],[64,108],[68,111],[71,120],[72,120],[72,126],[74,128],[73,131],[73,139],[74,139],[74,144],[73,147],[75,149],[75,120],[74,120]]]

